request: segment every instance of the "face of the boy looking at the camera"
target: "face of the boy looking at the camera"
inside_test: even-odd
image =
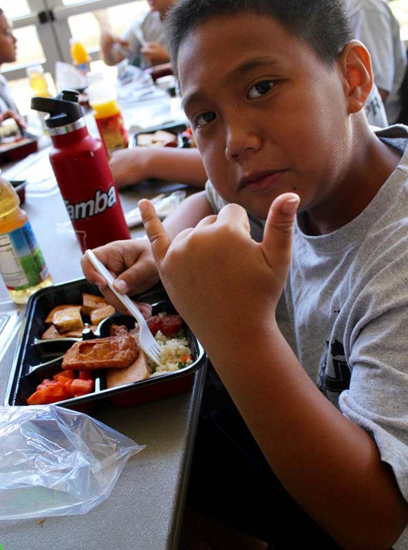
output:
[[[297,192],[301,210],[335,199],[352,151],[337,65],[258,14],[200,25],[178,65],[186,114],[224,199],[263,219],[282,192]]]

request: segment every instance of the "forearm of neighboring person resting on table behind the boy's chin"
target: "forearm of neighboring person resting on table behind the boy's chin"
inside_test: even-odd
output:
[[[146,151],[145,162],[148,177],[182,181],[184,184],[204,188],[207,175],[196,148],[150,148]]]

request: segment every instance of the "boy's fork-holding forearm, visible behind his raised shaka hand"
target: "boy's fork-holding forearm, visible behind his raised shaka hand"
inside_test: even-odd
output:
[[[197,223],[213,214],[205,191],[200,191],[183,201],[177,210],[170,214],[163,222],[164,228],[171,239],[186,228],[192,228]]]

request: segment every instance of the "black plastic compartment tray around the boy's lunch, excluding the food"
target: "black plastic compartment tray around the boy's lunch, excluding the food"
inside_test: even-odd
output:
[[[61,371],[62,355],[74,341],[41,340],[41,335],[46,329],[44,320],[51,309],[57,305],[80,304],[83,292],[101,296],[96,286],[85,279],[78,279],[41,289],[30,298],[10,372],[5,405],[26,405],[26,399],[36,391],[36,386],[44,378],[52,378],[52,375]],[[160,311],[176,313],[161,286],[138,296],[137,299],[150,303],[153,307],[153,315]],[[132,317],[116,313],[100,322],[95,333],[96,337],[109,336],[109,327],[112,323],[126,325],[128,328],[134,327]],[[186,325],[184,325],[184,332],[193,353],[193,363],[184,369],[115,388],[106,388],[103,370],[95,371],[93,393],[58,401],[56,404],[87,411],[89,410],[87,405],[97,399],[108,398],[119,406],[131,406],[186,391],[193,384],[193,373],[206,362],[206,355],[197,338]]]

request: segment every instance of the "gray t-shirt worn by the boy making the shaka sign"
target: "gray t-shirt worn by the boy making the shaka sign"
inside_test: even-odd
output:
[[[376,197],[339,230],[294,229],[279,327],[323,394],[376,441],[408,501],[408,128],[376,132],[405,151]],[[215,212],[225,204],[210,183]],[[250,217],[256,240],[263,223]],[[408,548],[408,527],[394,544]]]

